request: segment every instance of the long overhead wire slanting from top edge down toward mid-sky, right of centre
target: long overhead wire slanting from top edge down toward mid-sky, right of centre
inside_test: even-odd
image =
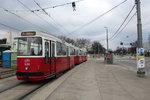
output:
[[[86,26],[88,26],[89,24],[91,24],[91,23],[95,22],[96,20],[100,19],[101,17],[103,17],[104,15],[108,14],[109,12],[111,12],[112,10],[114,10],[115,8],[117,8],[117,7],[119,7],[120,5],[124,4],[126,1],[127,1],[127,0],[122,1],[121,3],[119,3],[118,5],[112,7],[110,10],[106,11],[105,13],[103,13],[103,14],[97,16],[96,18],[92,19],[91,21],[87,22],[86,24],[82,25],[81,27],[79,27],[79,28],[75,29],[74,31],[68,33],[67,36],[69,36],[69,35],[71,35],[71,34],[77,32],[77,31],[79,31],[79,30],[81,30],[81,29],[83,29],[83,28],[85,28]]]

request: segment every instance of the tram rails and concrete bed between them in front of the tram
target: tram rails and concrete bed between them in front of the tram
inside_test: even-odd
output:
[[[52,81],[53,80],[46,80],[41,82],[24,81],[17,83],[11,87],[1,90],[0,98],[4,98],[4,100],[22,100],[32,95],[32,93],[46,85],[48,82]]]

